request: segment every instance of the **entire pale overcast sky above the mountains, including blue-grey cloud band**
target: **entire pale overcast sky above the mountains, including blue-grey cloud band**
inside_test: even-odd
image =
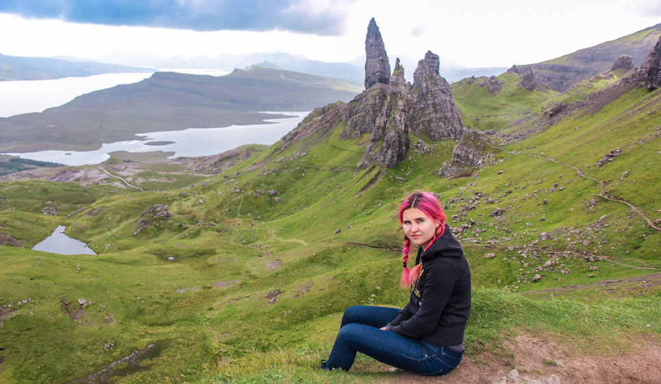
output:
[[[556,58],[661,23],[661,0],[1,0],[0,53],[282,51],[340,62],[364,55],[372,17],[409,76],[427,50],[442,67]]]

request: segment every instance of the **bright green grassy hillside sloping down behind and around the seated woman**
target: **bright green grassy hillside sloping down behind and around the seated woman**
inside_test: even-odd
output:
[[[82,379],[138,350],[140,363],[112,368],[114,382],[398,382],[403,372],[369,359],[349,374],[314,368],[346,307],[406,302],[396,211],[416,189],[439,195],[471,265],[462,366],[491,356],[516,368],[519,335],[581,356],[658,345],[661,206],[649,191],[661,187],[661,93],[633,89],[548,124],[549,105],[581,95],[530,93],[508,76],[499,77],[501,93],[453,88],[464,121],[479,117],[495,139],[538,130],[503,141],[495,165],[463,178],[436,176],[455,143],[425,138],[431,152],[357,172],[369,139],[338,139],[340,123],[284,151],[253,146],[245,160],[221,159],[209,168],[224,169],[216,176],[167,162],[104,165],[133,167],[125,177],[144,193],[110,177],[86,188],[3,182],[0,232],[24,248],[0,248],[0,381]],[[587,98],[612,81],[581,89]],[[595,167],[616,147],[612,162]],[[156,204],[172,217],[153,217]],[[45,206],[57,215],[41,213]],[[141,213],[151,226],[138,232]],[[27,249],[58,224],[99,254]],[[539,364],[557,365],[550,354]]]

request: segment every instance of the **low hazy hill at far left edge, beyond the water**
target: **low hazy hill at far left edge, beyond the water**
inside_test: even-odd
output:
[[[24,58],[0,54],[0,81],[47,80],[60,77],[80,77],[103,73],[153,72],[153,69],[127,67],[90,61],[69,61],[56,58]]]

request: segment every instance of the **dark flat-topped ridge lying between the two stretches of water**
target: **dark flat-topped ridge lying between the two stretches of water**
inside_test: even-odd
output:
[[[312,110],[348,101],[362,86],[251,67],[226,76],[155,73],[136,84],[95,91],[44,112],[0,118],[0,151],[90,150],[136,133],[262,123],[262,111]]]

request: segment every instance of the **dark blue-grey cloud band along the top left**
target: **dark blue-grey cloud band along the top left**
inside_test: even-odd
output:
[[[346,1],[325,8],[302,0],[1,0],[0,13],[75,23],[215,31],[282,29],[339,35]]]

